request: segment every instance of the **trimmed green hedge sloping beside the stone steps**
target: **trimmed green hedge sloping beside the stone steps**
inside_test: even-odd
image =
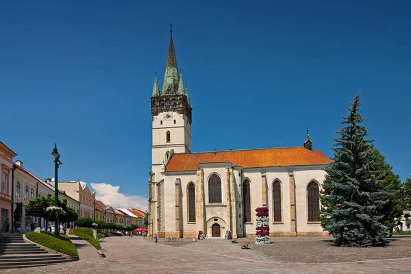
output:
[[[42,245],[44,247],[48,247],[49,249],[53,249],[60,253],[69,255],[69,256],[77,256],[77,249],[73,242],[66,240],[66,235],[64,235],[64,240],[56,239],[53,236],[47,235],[45,233],[37,233],[37,232],[27,232],[25,234],[26,238],[31,240],[32,242],[36,242],[38,245]],[[67,237],[68,238],[68,237]]]

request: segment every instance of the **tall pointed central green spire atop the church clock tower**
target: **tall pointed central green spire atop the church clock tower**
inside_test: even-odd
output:
[[[170,44],[169,54],[166,61],[166,72],[164,73],[164,81],[162,94],[173,94],[177,92],[179,83],[177,59],[175,58],[174,42],[173,42],[173,25],[170,23]]]

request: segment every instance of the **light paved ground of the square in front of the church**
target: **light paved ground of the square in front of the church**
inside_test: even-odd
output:
[[[253,240],[253,239],[241,239]],[[275,243],[273,244],[275,245]],[[410,273],[410,258],[338,264],[292,264],[261,256],[255,249],[222,239],[198,242],[159,240],[139,236],[110,237],[101,243],[106,258],[6,270],[5,273]],[[252,246],[251,246],[252,247]],[[352,249],[361,252],[362,249]],[[314,254],[315,255],[315,254]]]

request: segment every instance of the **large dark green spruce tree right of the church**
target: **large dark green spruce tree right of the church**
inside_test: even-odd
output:
[[[386,245],[387,227],[381,223],[379,210],[388,203],[390,193],[382,186],[386,170],[377,161],[372,140],[360,110],[360,93],[354,97],[345,125],[337,133],[334,162],[326,169],[321,203],[322,225],[334,237],[334,243],[345,247]],[[325,208],[327,207],[327,208]]]

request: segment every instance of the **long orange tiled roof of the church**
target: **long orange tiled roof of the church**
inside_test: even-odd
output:
[[[233,166],[247,168],[329,164],[332,160],[319,150],[310,151],[303,147],[175,153],[167,164],[166,171],[197,171],[198,164],[211,162],[232,162]]]

